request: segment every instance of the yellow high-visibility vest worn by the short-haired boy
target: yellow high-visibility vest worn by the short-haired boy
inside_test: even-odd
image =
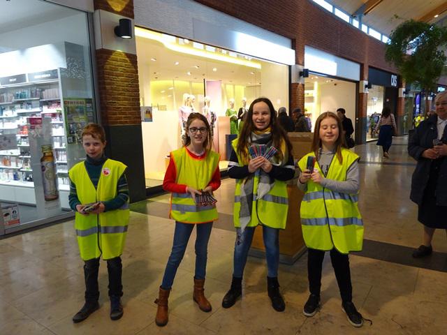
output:
[[[108,159],[104,162],[98,186],[91,182],[85,162],[77,163],[68,172],[76,186],[81,204],[104,202],[117,196],[119,178],[126,165]],[[129,200],[119,209],[87,216],[75,214],[75,230],[82,260],[99,258],[101,251],[104,260],[122,255],[129,224]]]

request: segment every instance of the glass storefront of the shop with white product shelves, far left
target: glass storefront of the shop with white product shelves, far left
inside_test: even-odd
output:
[[[87,14],[38,0],[2,1],[0,234],[67,214],[68,169],[96,121]],[[32,20],[31,20],[32,19]]]

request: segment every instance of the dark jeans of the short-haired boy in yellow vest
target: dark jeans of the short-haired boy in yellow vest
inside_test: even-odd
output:
[[[107,270],[109,273],[109,297],[122,297],[122,262],[121,257],[115,257],[107,260]],[[84,277],[85,277],[85,301],[94,302],[99,299],[98,288],[98,271],[99,258],[87,260],[84,263]]]

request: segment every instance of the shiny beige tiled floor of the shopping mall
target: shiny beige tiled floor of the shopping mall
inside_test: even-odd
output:
[[[404,144],[404,138],[395,139],[386,162],[374,143],[356,147],[362,157],[365,251],[350,256],[353,301],[365,318],[373,320],[372,326],[354,329],[347,322],[328,257],[323,306],[314,318],[302,315],[308,296],[306,256],[294,265],[280,266],[284,313],[270,306],[265,262],[259,258],[249,258],[242,300],[233,308],[221,308],[230,285],[235,239],[234,182],[226,179],[217,191],[221,220],[214,226],[208,255],[205,288],[211,313],[200,311],[192,300],[190,243],[170,296],[170,321],[163,328],[154,323],[154,299],[173,237],[173,221],[166,218],[168,196],[161,195],[133,204],[123,255],[124,317],[118,321],[108,316],[108,278],[102,262],[100,310],[85,322],[71,322],[84,291],[73,221],[0,240],[0,334],[447,334],[446,234],[435,234],[437,253],[431,258],[411,258],[422,228],[416,205],[409,201],[414,161]]]

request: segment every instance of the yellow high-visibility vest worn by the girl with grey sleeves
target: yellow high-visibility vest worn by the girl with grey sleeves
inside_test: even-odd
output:
[[[309,153],[298,162],[306,170]],[[330,163],[326,178],[346,180],[349,167],[358,160],[358,155],[342,148],[343,162],[335,155]],[[315,168],[323,176],[318,162]],[[307,191],[301,202],[302,235],[308,248],[329,251],[336,248],[340,253],[361,251],[363,243],[363,221],[358,211],[358,194],[347,194],[323,188],[312,180],[307,181]]]

